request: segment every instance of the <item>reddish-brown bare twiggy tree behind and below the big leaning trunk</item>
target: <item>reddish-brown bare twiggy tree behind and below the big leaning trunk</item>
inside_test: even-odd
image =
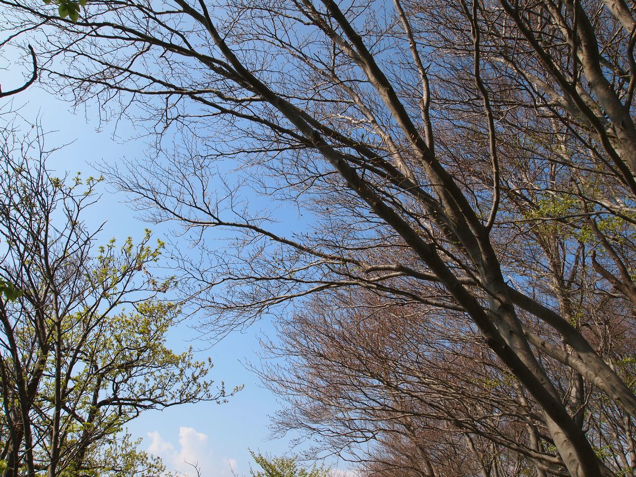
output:
[[[275,429],[311,438],[309,455],[338,453],[370,475],[567,475],[541,410],[460,314],[340,290],[282,319],[279,335],[259,372],[288,403]],[[542,364],[602,464],[632,475],[629,420],[596,389],[577,399],[572,373]]]

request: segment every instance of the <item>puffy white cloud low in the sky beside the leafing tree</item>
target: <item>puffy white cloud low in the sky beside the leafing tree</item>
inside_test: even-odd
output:
[[[201,477],[231,477],[231,469],[236,469],[235,459],[215,455],[209,446],[207,434],[192,427],[179,427],[178,448],[157,431],[148,432],[148,438],[148,452],[161,457],[169,471],[195,477],[195,464],[201,471]]]

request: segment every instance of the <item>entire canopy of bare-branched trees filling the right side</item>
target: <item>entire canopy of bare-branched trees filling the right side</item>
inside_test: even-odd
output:
[[[632,6],[0,3],[48,87],[155,136],[106,172],[190,233],[210,329],[286,315],[283,423],[396,465],[441,432],[469,473],[634,473]]]

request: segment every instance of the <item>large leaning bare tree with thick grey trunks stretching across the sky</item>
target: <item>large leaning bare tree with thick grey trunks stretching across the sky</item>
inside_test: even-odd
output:
[[[195,234],[204,260],[183,268],[212,324],[337,288],[458,313],[539,410],[555,462],[611,474],[578,410],[598,389],[636,417],[615,340],[636,303],[623,1],[94,1],[76,23],[3,4],[16,34],[45,30],[52,88],[185,135],[113,172]],[[311,214],[308,231],[245,210],[228,170]],[[214,227],[237,231],[233,254],[207,246]]]

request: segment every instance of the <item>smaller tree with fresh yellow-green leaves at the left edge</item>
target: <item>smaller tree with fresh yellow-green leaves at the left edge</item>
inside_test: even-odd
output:
[[[151,273],[163,244],[97,246],[83,222],[101,178],[55,177],[39,127],[3,130],[0,464],[3,477],[159,476],[125,425],[150,409],[219,401],[212,364],[172,352],[179,306]],[[149,270],[150,268],[150,270]]]

